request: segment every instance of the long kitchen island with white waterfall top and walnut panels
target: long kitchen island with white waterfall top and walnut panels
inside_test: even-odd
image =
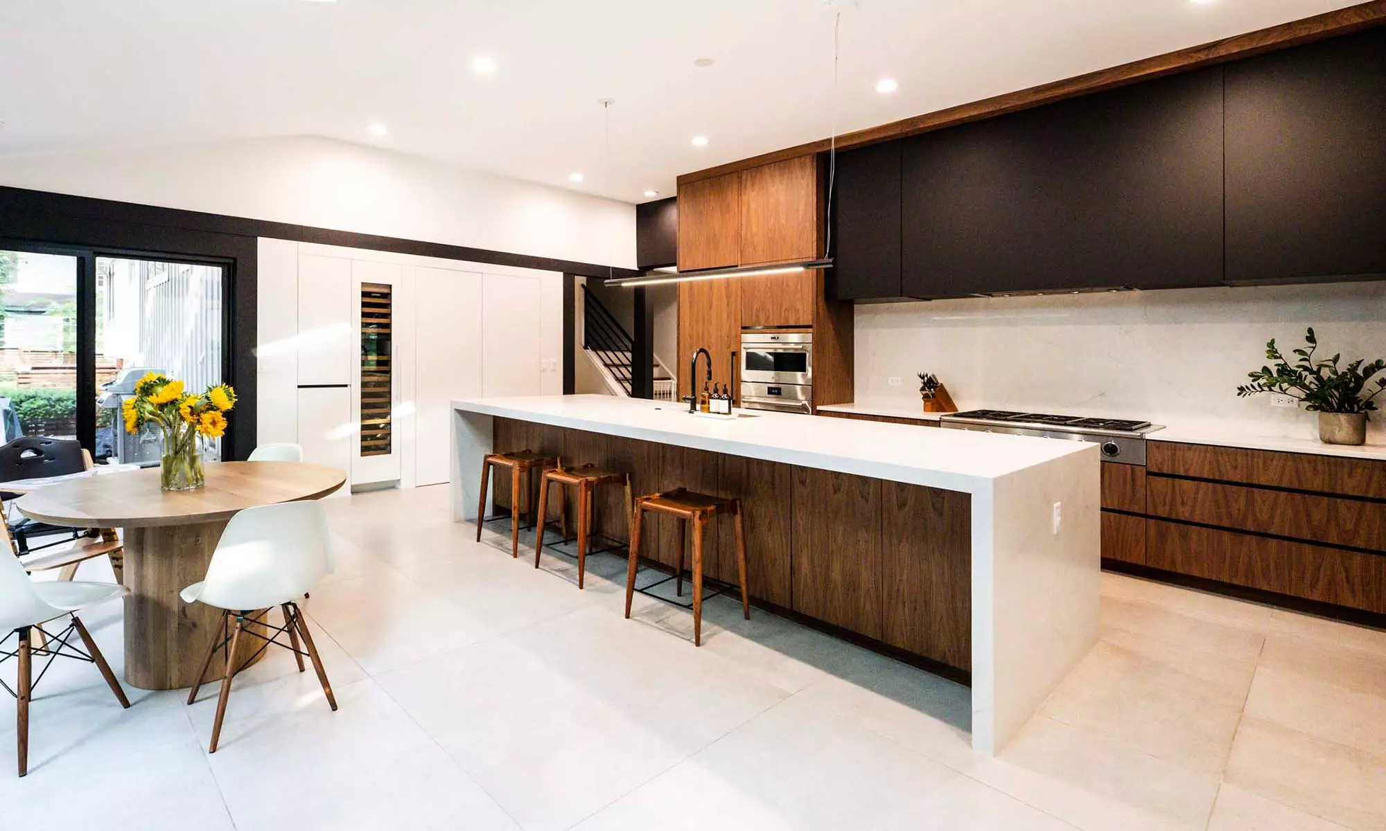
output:
[[[599,395],[452,409],[455,521],[477,518],[492,450],[629,471],[636,493],[739,496],[753,600],[969,681],[981,753],[1003,747],[1096,643],[1095,445],[780,413],[717,420]],[[625,539],[621,494],[596,514],[599,532]],[[707,569],[735,582],[723,536]],[[672,524],[644,544],[671,565]]]

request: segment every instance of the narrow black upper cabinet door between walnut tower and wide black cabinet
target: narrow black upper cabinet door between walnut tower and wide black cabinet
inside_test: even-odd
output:
[[[839,301],[901,299],[900,141],[837,155],[833,202],[833,270]]]

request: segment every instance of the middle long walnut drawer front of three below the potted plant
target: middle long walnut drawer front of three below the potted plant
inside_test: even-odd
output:
[[[1149,476],[1146,504],[1155,517],[1386,551],[1383,503]]]

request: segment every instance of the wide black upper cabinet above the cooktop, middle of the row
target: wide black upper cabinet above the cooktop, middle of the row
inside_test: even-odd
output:
[[[1220,285],[1222,68],[908,138],[902,187],[911,296]]]

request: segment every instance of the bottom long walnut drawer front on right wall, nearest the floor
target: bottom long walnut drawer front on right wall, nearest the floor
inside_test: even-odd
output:
[[[1249,589],[1386,611],[1386,557],[1150,519],[1146,565]]]

